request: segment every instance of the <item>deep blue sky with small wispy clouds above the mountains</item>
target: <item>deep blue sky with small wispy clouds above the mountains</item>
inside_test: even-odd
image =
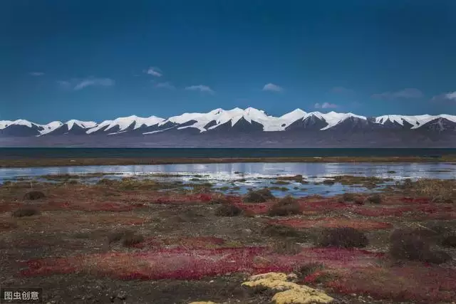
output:
[[[456,114],[451,0],[0,1],[0,120]]]

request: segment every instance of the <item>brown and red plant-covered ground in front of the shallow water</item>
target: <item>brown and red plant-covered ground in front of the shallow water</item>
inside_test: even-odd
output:
[[[44,303],[270,303],[274,293],[241,285],[269,271],[294,272],[334,303],[456,303],[456,248],[433,244],[452,257],[439,265],[388,256],[395,229],[455,233],[449,199],[403,189],[375,203],[369,194],[357,202],[309,196],[297,198],[299,214],[269,216],[277,199],[248,203],[207,189],[37,184],[33,191],[45,197],[24,199],[31,190],[27,182],[0,187],[0,281],[42,287]],[[219,216],[222,205],[242,213]],[[36,214],[18,216],[23,209]],[[347,226],[362,231],[368,246],[316,245],[324,229]],[[301,276],[309,263],[326,273]],[[326,280],[317,280],[321,274]]]

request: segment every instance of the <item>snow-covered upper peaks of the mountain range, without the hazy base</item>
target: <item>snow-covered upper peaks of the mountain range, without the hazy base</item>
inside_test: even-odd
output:
[[[161,118],[118,117],[103,122],[68,120],[40,125],[27,120],[0,120],[1,137],[49,137],[69,135],[154,135],[167,132],[286,132],[354,130],[427,130],[455,132],[456,115],[383,115],[365,117],[353,113],[304,112],[293,110],[280,117],[255,108],[215,109],[207,113],[183,113]],[[175,134],[175,133],[174,133]]]

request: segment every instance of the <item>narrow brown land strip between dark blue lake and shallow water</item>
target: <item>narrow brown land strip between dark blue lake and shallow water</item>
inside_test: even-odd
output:
[[[102,165],[147,165],[147,164],[226,164],[234,162],[454,162],[456,155],[442,157],[147,157],[147,158],[22,158],[0,159],[0,168],[20,167],[68,167]]]

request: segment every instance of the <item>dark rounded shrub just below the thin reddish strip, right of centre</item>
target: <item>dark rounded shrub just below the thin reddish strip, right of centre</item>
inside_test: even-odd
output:
[[[351,227],[325,229],[317,240],[321,247],[363,248],[369,241],[363,232]]]

